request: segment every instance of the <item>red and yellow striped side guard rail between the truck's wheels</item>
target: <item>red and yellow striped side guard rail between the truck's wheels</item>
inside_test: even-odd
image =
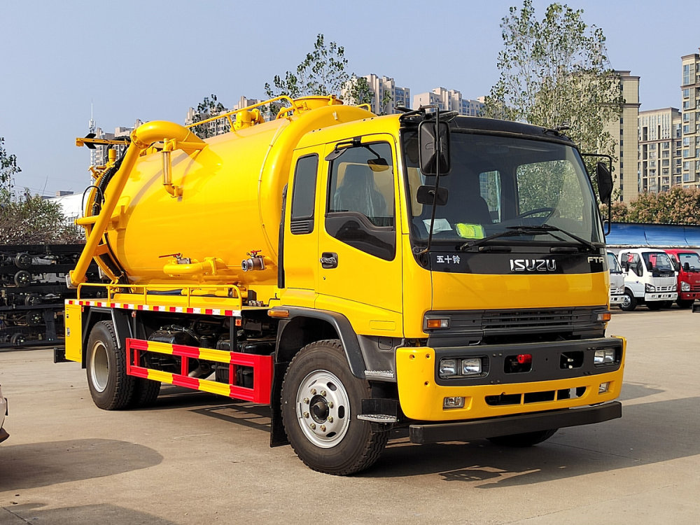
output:
[[[127,339],[126,351],[128,375],[269,405],[270,389],[272,388],[272,356],[257,356],[253,353],[197,348],[196,346],[145,341],[144,339]],[[141,354],[144,352],[179,356],[181,361],[180,373],[175,374],[142,366]],[[189,377],[190,359],[227,364],[228,384],[209,379]],[[236,371],[239,366],[253,369],[253,388],[235,384]]]

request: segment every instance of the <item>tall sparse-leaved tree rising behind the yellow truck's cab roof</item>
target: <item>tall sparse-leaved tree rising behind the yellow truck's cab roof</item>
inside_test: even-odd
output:
[[[568,125],[566,134],[582,151],[614,157],[606,127],[622,114],[624,99],[608,66],[603,30],[587,26],[582,15],[552,3],[538,21],[531,0],[511,7],[500,24],[500,76],[484,113],[550,129]]]

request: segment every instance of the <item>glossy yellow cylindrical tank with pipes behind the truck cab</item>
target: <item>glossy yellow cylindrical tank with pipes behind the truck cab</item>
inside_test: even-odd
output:
[[[117,266],[120,281],[137,285],[276,284],[293,149],[312,130],[373,116],[335,97],[294,104],[295,111],[269,123],[256,124],[255,110],[241,111],[234,131],[205,141],[173,123],[137,128],[99,214],[78,220],[87,232],[87,262],[102,253],[96,259],[106,274],[119,279]],[[86,210],[98,196],[93,190]],[[244,272],[249,255],[264,269]],[[78,261],[71,282],[82,281]]]

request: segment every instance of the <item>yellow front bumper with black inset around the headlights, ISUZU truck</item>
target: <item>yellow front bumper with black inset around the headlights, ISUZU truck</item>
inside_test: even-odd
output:
[[[399,348],[395,355],[400,407],[414,421],[465,421],[600,405],[619,396],[625,346],[622,337],[601,337],[498,346]],[[594,365],[596,349],[611,347],[617,349],[619,361],[610,366]],[[531,353],[532,370],[503,373],[503,362],[512,353]],[[491,363],[489,370],[473,379],[438,377],[440,358],[456,355],[486,356]],[[569,356],[582,360],[569,367]],[[445,407],[445,398],[463,398],[463,406]]]

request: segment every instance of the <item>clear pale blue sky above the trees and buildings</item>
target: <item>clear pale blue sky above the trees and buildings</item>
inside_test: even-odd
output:
[[[344,46],[349,72],[411,94],[446,87],[475,99],[498,79],[500,20],[522,0],[0,0],[0,137],[17,188],[55,195],[90,183],[90,111],[113,132],[137,119],[183,123],[216,94],[264,97],[317,34]],[[537,18],[551,1],[533,0]],[[687,1],[570,0],[603,29],[614,69],[640,76],[640,110],[680,105],[680,57],[698,52]],[[684,28],[685,25],[685,28]]]

